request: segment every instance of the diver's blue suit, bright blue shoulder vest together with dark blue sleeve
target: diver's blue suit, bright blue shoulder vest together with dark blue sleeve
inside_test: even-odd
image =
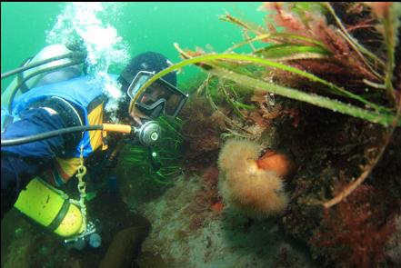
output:
[[[2,139],[88,124],[88,107],[105,101],[104,85],[103,81],[94,82],[93,77],[81,76],[70,81],[31,89],[15,100],[13,115],[18,115],[19,120],[5,127]],[[2,218],[14,205],[20,191],[31,179],[40,175],[55,156],[79,156],[78,144],[84,145],[84,157],[93,153],[94,148],[91,148],[87,132],[58,135],[34,143],[2,147]]]

